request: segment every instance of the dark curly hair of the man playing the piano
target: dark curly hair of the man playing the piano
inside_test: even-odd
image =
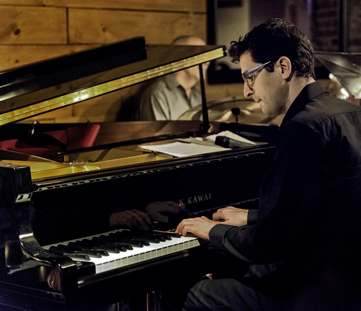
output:
[[[239,63],[239,57],[249,52],[255,63],[272,61],[266,67],[274,71],[274,62],[281,56],[291,60],[296,76],[312,77],[314,74],[313,48],[305,34],[295,25],[280,18],[272,18],[253,28],[243,38],[232,41],[228,50],[233,63]]]

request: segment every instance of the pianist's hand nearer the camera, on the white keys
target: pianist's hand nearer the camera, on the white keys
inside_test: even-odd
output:
[[[219,222],[209,220],[207,217],[197,217],[197,218],[188,218],[183,219],[179,223],[175,233],[179,233],[183,236],[187,235],[187,232],[191,232],[198,237],[209,240],[209,231]]]

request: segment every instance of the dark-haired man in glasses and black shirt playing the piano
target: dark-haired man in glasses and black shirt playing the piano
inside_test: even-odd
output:
[[[232,41],[229,54],[244,95],[286,115],[258,217],[229,208],[179,223],[177,233],[238,260],[231,278],[196,284],[183,310],[360,310],[361,108],[315,82],[310,42],[284,20]]]

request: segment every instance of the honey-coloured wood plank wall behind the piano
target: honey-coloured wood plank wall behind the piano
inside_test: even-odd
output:
[[[0,0],[0,16],[0,71],[139,35],[149,44],[169,44],[181,35],[206,39],[206,0]],[[37,119],[113,121],[138,90],[120,90]]]

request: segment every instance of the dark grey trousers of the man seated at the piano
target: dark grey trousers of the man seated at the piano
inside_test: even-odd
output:
[[[331,283],[331,286],[330,286]],[[277,286],[276,286],[277,287]],[[234,279],[203,280],[192,287],[182,311],[356,311],[360,292],[332,280],[296,291],[261,292]]]

